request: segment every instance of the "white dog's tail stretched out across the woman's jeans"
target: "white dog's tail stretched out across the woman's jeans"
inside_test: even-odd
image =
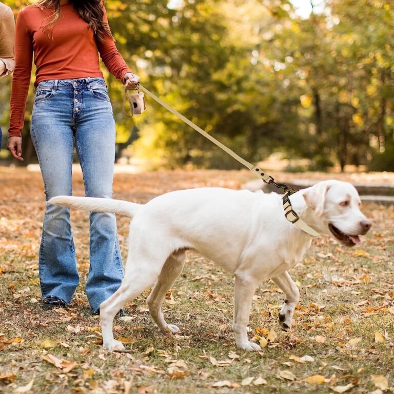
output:
[[[84,209],[86,211],[116,213],[117,215],[129,216],[129,218],[132,218],[141,207],[140,204],[123,200],[74,197],[71,195],[58,195],[51,198],[48,204],[65,205],[71,208]]]

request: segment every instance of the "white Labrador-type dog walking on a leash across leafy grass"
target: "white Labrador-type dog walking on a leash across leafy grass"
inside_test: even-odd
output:
[[[292,194],[290,201],[304,222],[345,246],[360,243],[359,235],[371,227],[359,209],[357,190],[349,183],[320,182]],[[124,349],[113,338],[113,318],[153,283],[147,299],[153,320],[162,330],[179,331],[166,323],[161,306],[182,271],[186,249],[198,251],[235,275],[232,328],[239,347],[260,349],[249,342],[247,323],[253,293],[266,279],[285,293],[279,320],[284,330],[290,328],[300,293],[287,271],[302,261],[312,237],[285,219],[279,194],[200,188],[166,193],[145,205],[71,196],[58,196],[49,203],[132,218],[124,280],[100,305],[106,349]]]

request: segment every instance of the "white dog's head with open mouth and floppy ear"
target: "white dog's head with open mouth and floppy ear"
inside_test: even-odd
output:
[[[307,206],[322,234],[331,235],[342,245],[359,244],[371,222],[360,211],[360,196],[347,182],[323,181],[302,191]]]

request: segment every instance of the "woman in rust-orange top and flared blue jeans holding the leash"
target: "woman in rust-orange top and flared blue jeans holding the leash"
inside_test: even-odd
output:
[[[36,93],[30,134],[43,175],[46,200],[71,195],[73,145],[85,193],[112,198],[115,123],[99,53],[108,70],[133,88],[140,80],[116,49],[101,0],[39,0],[16,19],[8,149],[22,159],[32,56]],[[69,209],[46,207],[40,247],[43,306],[70,303],[78,284]],[[86,294],[94,312],[117,288],[123,265],[114,214],[90,215],[90,267]]]

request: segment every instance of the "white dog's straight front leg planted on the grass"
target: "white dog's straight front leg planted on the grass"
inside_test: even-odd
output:
[[[252,304],[252,298],[257,283],[245,275],[235,275],[234,287],[234,318],[232,329],[235,334],[237,346],[246,350],[260,350],[261,347],[249,342],[246,327],[249,321],[249,312]]]

